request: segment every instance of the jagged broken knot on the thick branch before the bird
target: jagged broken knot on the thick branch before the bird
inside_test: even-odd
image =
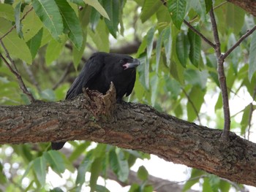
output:
[[[104,95],[99,91],[83,89],[83,99],[80,99],[83,107],[89,110],[95,120],[110,120],[113,117],[113,112],[116,109],[116,88],[113,82],[110,83],[110,88]]]

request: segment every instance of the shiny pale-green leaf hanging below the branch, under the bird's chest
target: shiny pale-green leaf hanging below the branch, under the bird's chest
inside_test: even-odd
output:
[[[110,168],[118,176],[118,180],[125,182],[129,175],[129,166],[124,158],[124,153],[121,150],[118,153],[115,150],[110,150],[109,155]]]

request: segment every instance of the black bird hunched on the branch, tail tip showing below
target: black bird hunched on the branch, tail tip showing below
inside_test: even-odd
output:
[[[116,53],[94,53],[83,66],[82,71],[67,91],[66,99],[73,99],[83,88],[97,90],[105,94],[113,82],[116,88],[116,99],[129,96],[135,85],[136,67],[140,61],[129,55]],[[53,150],[60,150],[65,142],[52,142]]]

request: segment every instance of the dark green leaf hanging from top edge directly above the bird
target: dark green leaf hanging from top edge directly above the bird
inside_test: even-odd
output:
[[[118,24],[119,24],[119,9],[120,4],[119,0],[108,0],[103,1],[103,6],[108,12],[109,18],[105,18],[105,23],[108,26],[108,30],[113,37],[116,38],[116,32],[118,31]]]

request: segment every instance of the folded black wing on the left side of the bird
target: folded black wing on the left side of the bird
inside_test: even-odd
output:
[[[93,80],[97,74],[99,74],[103,66],[103,56],[99,54],[92,55],[91,58],[89,58],[89,61],[86,62],[85,66],[83,66],[78,77],[75,78],[75,81],[72,83],[69,91],[67,91],[66,99],[72,99],[80,93],[83,93],[83,88],[87,88],[89,86],[89,81]]]

